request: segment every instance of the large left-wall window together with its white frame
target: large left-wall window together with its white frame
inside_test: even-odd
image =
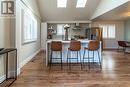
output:
[[[28,16],[28,18],[25,16]],[[26,20],[27,22],[25,23],[26,18],[27,18],[27,20]],[[28,21],[30,21],[30,22],[28,22]],[[29,25],[27,23],[29,23]],[[26,28],[25,28],[25,25],[27,26]],[[33,42],[37,41],[37,39],[38,39],[37,27],[38,27],[38,22],[37,22],[37,19],[35,18],[35,16],[33,15],[33,13],[29,10],[22,9],[22,45],[28,44],[28,43],[33,43]],[[30,39],[27,39],[28,30],[26,30],[26,29],[28,29],[30,31],[30,35],[29,35]]]

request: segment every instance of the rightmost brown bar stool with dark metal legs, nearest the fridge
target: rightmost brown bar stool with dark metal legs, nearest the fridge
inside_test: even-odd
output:
[[[84,55],[83,55],[83,65],[84,65],[84,60],[85,59],[88,59],[88,66],[89,66],[89,70],[90,70],[90,59],[93,59],[93,64],[94,64],[94,52],[97,51],[98,53],[98,60],[99,60],[99,64],[100,64],[100,68],[102,68],[102,65],[101,65],[101,59],[100,59],[100,55],[99,55],[99,41],[97,40],[93,40],[93,41],[90,41],[88,43],[88,47],[85,47],[84,48]],[[85,57],[85,54],[86,54],[86,50],[88,50],[88,57],[86,58]],[[93,56],[90,57],[89,55],[89,52],[92,51],[93,52]]]

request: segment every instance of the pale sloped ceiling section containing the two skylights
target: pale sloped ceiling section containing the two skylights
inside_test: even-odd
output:
[[[68,0],[67,8],[57,8],[57,0],[37,0],[42,21],[89,20],[100,0],[88,0],[85,8],[76,8],[77,0]]]

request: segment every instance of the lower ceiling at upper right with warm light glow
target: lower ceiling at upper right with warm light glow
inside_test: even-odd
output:
[[[130,2],[127,2],[99,17],[94,20],[114,20],[114,21],[122,21],[130,19]]]

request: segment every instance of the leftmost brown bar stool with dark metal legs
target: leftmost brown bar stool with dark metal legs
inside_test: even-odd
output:
[[[60,52],[60,58],[53,58],[53,52]],[[61,69],[62,69],[62,42],[61,41],[52,41],[51,42],[51,57],[50,57],[50,69],[52,66],[52,60],[60,59]]]

